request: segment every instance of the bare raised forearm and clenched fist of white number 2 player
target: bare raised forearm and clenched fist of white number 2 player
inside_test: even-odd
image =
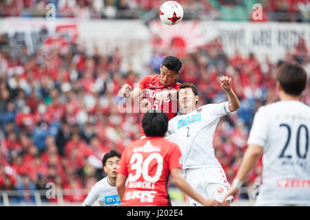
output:
[[[231,78],[228,76],[222,76],[220,78],[220,86],[224,91],[226,91],[226,94],[228,96],[229,100],[229,111],[233,112],[240,108],[240,102],[238,100],[238,97],[234,93],[233,89],[231,88]]]

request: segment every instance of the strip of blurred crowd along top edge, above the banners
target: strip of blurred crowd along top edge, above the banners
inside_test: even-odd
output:
[[[48,3],[55,6],[56,17],[79,19],[138,19],[154,11],[165,0],[23,0],[0,1],[0,17],[45,17]],[[263,8],[264,21],[310,21],[307,0],[179,0],[184,19],[251,20],[255,3]]]

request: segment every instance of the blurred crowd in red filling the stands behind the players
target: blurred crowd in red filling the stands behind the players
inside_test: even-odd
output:
[[[95,10],[99,1],[58,1],[62,17],[80,8]],[[123,7],[150,10],[153,1],[100,1],[99,13],[87,16],[99,18],[103,9]],[[184,7],[194,7],[205,1],[180,1]],[[269,10],[278,10],[284,1],[265,1]],[[41,16],[40,4],[46,1],[0,1],[1,16]],[[214,1],[207,3],[207,8]],[[216,1],[223,5],[239,5],[245,1]],[[285,1],[285,7],[307,1]],[[20,4],[20,5],[19,5]],[[270,6],[273,5],[273,6]],[[282,5],[283,6],[283,5]],[[36,9],[36,10],[34,10]],[[43,8],[44,9],[44,8]],[[42,9],[42,10],[43,10]],[[209,10],[208,9],[208,10]],[[210,9],[210,10],[211,10]],[[287,8],[289,10],[289,8]],[[299,10],[293,8],[293,10]],[[95,13],[96,14],[96,13]],[[271,19],[271,18],[269,18]],[[297,20],[296,20],[297,21]],[[300,19],[303,21],[303,19]],[[298,62],[310,73],[309,45],[302,38],[296,47],[289,48],[283,60],[274,63],[265,56],[258,61],[254,54],[242,56],[238,50],[228,57],[218,39],[182,58],[183,67],[178,82],[194,83],[199,89],[198,105],[227,100],[218,78],[224,74],[233,79],[233,88],[241,102],[236,113],[222,118],[214,135],[216,157],[222,164],[228,181],[234,179],[254,113],[263,104],[278,100],[276,73],[284,61]],[[101,54],[94,48],[91,56],[85,48],[71,43],[70,50],[28,52],[10,50],[8,39],[0,36],[0,190],[45,190],[48,182],[58,189],[87,189],[105,177],[101,159],[112,149],[122,152],[127,144],[140,137],[139,113],[120,113],[118,92],[124,83],[134,87],[141,76],[159,74],[159,65],[170,54],[154,50],[147,65],[148,72],[134,72],[130,67],[121,70],[123,57],[118,50]],[[310,88],[302,95],[310,105]],[[251,171],[244,186],[260,181],[260,162]],[[81,202],[86,195],[65,196],[65,201]],[[247,197],[247,195],[240,195]],[[42,197],[47,201],[46,197]],[[0,198],[1,201],[1,198]],[[34,202],[34,197],[11,197],[10,202]],[[56,199],[49,199],[56,201]]]

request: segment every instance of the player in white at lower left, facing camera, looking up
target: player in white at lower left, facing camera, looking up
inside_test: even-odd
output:
[[[96,200],[100,206],[120,206],[121,199],[116,189],[116,168],[121,159],[121,153],[110,151],[103,156],[102,163],[107,177],[97,181],[88,192],[83,206],[92,206]]]

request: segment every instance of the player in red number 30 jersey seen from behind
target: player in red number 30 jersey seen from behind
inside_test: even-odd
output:
[[[220,206],[215,199],[203,198],[184,179],[180,148],[163,137],[168,126],[167,115],[146,113],[142,126],[146,137],[125,148],[116,171],[121,206],[171,206],[167,193],[169,175],[189,197],[205,206]]]

